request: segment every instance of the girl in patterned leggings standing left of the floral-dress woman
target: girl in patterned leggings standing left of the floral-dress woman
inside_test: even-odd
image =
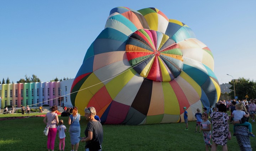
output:
[[[206,150],[208,151],[209,147],[212,148],[212,144],[210,144],[210,139],[212,137],[211,124],[208,120],[208,114],[203,113],[202,119],[201,130],[203,130],[204,143],[206,145]]]

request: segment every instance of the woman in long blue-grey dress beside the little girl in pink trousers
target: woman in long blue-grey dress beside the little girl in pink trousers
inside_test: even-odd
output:
[[[78,109],[77,107],[74,107],[72,110],[72,113],[69,116],[68,124],[70,125],[69,127],[69,134],[70,134],[70,142],[71,142],[71,151],[78,150],[79,147],[79,141],[80,139],[80,115],[78,114]]]

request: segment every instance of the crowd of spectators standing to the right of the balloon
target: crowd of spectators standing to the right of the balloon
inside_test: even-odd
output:
[[[256,100],[256,99],[255,99]],[[228,150],[227,140],[229,137],[229,123],[233,123],[233,136],[236,136],[235,128],[237,126],[245,126],[246,131],[249,132],[248,135],[251,137],[255,137],[252,133],[252,126],[249,122],[249,117],[251,117],[251,121],[255,122],[255,114],[256,114],[256,104],[255,100],[250,99],[247,100],[220,100],[218,103],[212,108],[210,106],[209,109],[203,108],[203,113],[201,114],[201,110],[197,109],[197,113],[194,115],[196,118],[196,130],[195,133],[201,131],[203,132],[203,138],[206,145],[206,150],[211,148],[211,151],[217,151],[217,146],[221,145],[223,151]],[[183,107],[184,110],[184,121],[186,124],[186,129],[188,130],[187,123],[187,108]],[[230,116],[226,113],[230,111]],[[208,120],[208,115],[211,118],[211,121]],[[198,130],[198,127],[199,130]],[[210,140],[212,139],[212,144]],[[237,138],[238,139],[238,138]],[[243,138],[244,139],[244,138]],[[239,140],[240,141],[240,140]],[[246,140],[247,141],[247,140]],[[248,141],[241,140],[241,143],[246,143],[244,146],[249,147]],[[241,146],[240,146],[241,147]]]

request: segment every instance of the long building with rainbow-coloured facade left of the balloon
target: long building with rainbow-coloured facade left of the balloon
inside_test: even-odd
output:
[[[40,105],[72,106],[70,89],[74,79],[54,82],[9,83],[0,84],[0,107],[6,105],[21,106]]]

